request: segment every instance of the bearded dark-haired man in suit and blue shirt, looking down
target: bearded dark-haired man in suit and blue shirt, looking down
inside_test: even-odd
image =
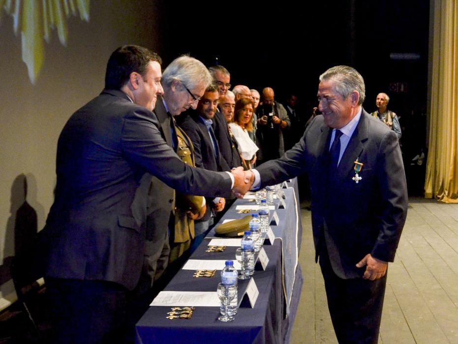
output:
[[[194,146],[196,167],[210,171],[225,171],[222,155],[214,133],[214,117],[219,104],[219,90],[211,84],[199,100],[195,111],[188,111],[177,117],[178,125],[191,139]],[[195,238],[190,251],[194,251],[202,242],[214,222],[215,212],[224,209],[224,198],[207,198],[207,211],[202,219],[194,222]]]

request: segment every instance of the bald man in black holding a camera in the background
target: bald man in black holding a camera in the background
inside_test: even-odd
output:
[[[271,87],[262,90],[262,98],[263,104],[258,107],[256,114],[259,163],[278,159],[285,153],[283,131],[291,125],[285,108],[275,101],[275,93]]]

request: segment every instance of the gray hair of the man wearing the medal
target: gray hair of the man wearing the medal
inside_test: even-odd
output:
[[[343,99],[346,99],[351,92],[358,91],[360,94],[358,105],[363,104],[366,98],[366,86],[363,77],[356,69],[348,66],[335,66],[320,75],[320,81],[323,80],[332,80],[334,89]]]

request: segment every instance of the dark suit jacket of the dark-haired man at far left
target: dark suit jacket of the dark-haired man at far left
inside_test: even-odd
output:
[[[55,201],[40,232],[45,276],[133,289],[143,262],[148,173],[183,193],[230,194],[227,173],[183,163],[158,126],[120,90],[104,90],[70,117],[57,147]]]

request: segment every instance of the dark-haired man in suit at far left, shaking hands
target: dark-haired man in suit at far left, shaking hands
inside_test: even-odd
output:
[[[40,232],[55,343],[119,343],[138,282],[151,174],[184,193],[228,196],[233,176],[193,169],[162,139],[155,115],[160,57],[123,46],[102,93],[65,124],[55,201]],[[151,173],[151,174],[149,174]],[[235,188],[244,184],[240,170]]]

